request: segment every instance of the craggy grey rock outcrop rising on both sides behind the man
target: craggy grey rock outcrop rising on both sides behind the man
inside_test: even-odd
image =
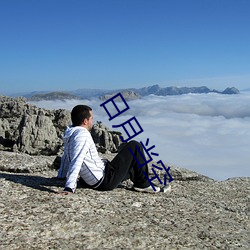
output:
[[[0,149],[27,154],[62,153],[62,136],[71,124],[70,112],[46,110],[26,102],[25,98],[0,97]],[[120,133],[110,131],[101,122],[92,130],[97,148],[117,152]]]

